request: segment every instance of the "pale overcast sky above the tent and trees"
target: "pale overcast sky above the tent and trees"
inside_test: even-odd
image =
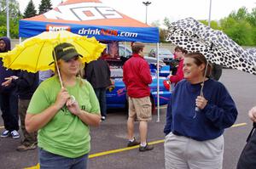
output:
[[[29,0],[17,0],[20,3],[20,11],[23,13]],[[65,0],[63,0],[65,2]],[[146,0],[144,0],[146,1]],[[148,24],[155,20],[164,20],[165,17],[171,21],[193,17],[195,20],[208,20],[210,0],[149,0]],[[41,0],[33,0],[38,10]],[[61,3],[61,0],[51,0],[53,7]],[[145,22],[146,7],[143,0],[102,0],[102,3],[112,7],[122,14],[133,19]],[[224,18],[232,10],[245,6],[249,12],[256,8],[256,0],[212,0],[212,20]]]

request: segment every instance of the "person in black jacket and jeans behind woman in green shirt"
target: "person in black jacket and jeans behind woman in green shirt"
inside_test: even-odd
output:
[[[104,121],[107,117],[106,90],[111,85],[108,62],[102,59],[102,57],[91,61],[85,67],[85,75],[87,81],[94,88],[97,99],[99,100],[102,121]]]

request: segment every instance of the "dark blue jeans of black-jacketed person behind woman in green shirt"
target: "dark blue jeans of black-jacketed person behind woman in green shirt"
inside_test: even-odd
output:
[[[106,88],[95,88],[94,91],[100,103],[102,116],[107,116]]]

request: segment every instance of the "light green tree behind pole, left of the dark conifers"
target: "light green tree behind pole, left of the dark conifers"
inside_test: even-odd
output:
[[[11,38],[19,37],[19,20],[22,18],[19,3],[9,0],[9,33]],[[6,0],[0,0],[0,37],[6,36]]]

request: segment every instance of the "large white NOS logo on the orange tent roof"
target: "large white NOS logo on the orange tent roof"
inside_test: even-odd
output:
[[[123,18],[113,8],[106,7],[102,3],[75,3],[61,5],[57,10],[49,10],[44,14],[45,18],[52,20],[102,20]]]

